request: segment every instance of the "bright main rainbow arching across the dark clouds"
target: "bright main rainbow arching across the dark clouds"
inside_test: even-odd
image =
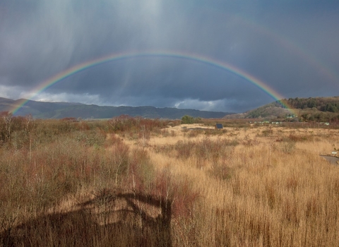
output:
[[[202,64],[207,64],[210,66],[214,66],[216,68],[222,68],[225,71],[229,71],[230,73],[233,73],[234,75],[239,76],[239,78],[243,78],[244,80],[249,81],[250,83],[256,85],[258,88],[261,88],[264,92],[266,92],[268,95],[273,97],[274,100],[281,100],[284,97],[280,95],[278,92],[273,90],[273,88],[270,88],[268,85],[263,83],[261,80],[258,80],[254,76],[251,76],[249,73],[246,73],[245,71],[242,71],[241,69],[232,66],[231,64],[227,64],[224,61],[218,61],[215,59],[210,59],[206,56],[200,56],[200,55],[194,55],[194,54],[187,54],[183,52],[125,52],[120,54],[111,54],[109,56],[104,56],[98,59],[94,59],[92,61],[86,61],[82,64],[78,64],[76,66],[73,66],[71,68],[68,68],[66,71],[61,71],[57,75],[53,76],[52,78],[49,78],[48,80],[44,81],[40,85],[37,86],[34,90],[30,92],[30,97],[28,97],[28,100],[24,100],[23,102],[20,102],[20,104],[16,105],[13,109],[10,110],[13,114],[18,112],[18,110],[23,107],[29,100],[32,100],[33,97],[36,95],[39,95],[44,90],[47,90],[47,88],[52,87],[52,85],[58,83],[61,80],[64,80],[65,78],[68,78],[70,76],[73,76],[74,74],[84,71],[88,68],[92,68],[94,66],[98,66],[100,64],[105,64],[107,62],[111,61],[118,61],[123,59],[132,59],[132,58],[144,58],[144,57],[168,57],[168,58],[174,58],[174,59],[186,59],[191,61],[197,61]],[[295,114],[291,107],[289,107],[287,104],[282,103],[283,107],[286,109],[289,109],[291,114]]]

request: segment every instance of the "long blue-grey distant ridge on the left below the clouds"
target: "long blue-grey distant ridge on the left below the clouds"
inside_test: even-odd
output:
[[[10,100],[0,97],[0,112],[9,111],[20,106],[26,100]],[[208,112],[194,109],[157,108],[157,107],[102,107],[95,104],[80,104],[67,102],[36,102],[29,100],[21,107],[16,116],[32,114],[37,119],[63,119],[75,117],[82,119],[110,119],[114,116],[126,114],[142,116],[149,119],[181,119],[184,115],[201,117],[204,119],[222,118],[229,112]]]

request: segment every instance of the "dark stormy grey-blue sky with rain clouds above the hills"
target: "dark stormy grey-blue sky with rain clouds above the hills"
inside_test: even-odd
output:
[[[338,95],[339,1],[0,1],[0,97],[246,112]]]

